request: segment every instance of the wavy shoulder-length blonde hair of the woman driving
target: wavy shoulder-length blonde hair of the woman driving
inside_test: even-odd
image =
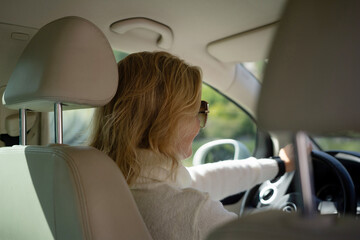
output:
[[[129,185],[140,174],[136,149],[150,149],[178,166],[179,121],[199,108],[201,70],[166,52],[134,53],[118,63],[115,97],[97,109],[90,145],[108,154]]]

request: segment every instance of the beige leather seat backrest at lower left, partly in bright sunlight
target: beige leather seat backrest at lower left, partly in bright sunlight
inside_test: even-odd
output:
[[[0,148],[1,239],[150,239],[124,177],[91,147]]]

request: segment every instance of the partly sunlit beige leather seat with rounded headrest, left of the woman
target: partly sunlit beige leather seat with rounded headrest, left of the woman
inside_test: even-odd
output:
[[[41,112],[101,106],[117,81],[103,33],[66,17],[33,37],[3,102]],[[121,171],[91,147],[2,147],[0,192],[0,239],[151,239]]]

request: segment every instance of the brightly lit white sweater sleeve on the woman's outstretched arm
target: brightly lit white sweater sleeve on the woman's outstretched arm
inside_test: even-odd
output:
[[[279,171],[273,159],[226,160],[189,167],[191,187],[208,192],[214,200],[245,191],[272,179]]]

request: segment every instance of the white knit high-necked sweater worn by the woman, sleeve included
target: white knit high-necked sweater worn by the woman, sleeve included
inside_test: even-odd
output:
[[[163,155],[139,150],[142,172],[131,192],[154,240],[204,239],[209,231],[237,215],[218,201],[242,192],[278,172],[271,159],[228,160],[185,168],[176,178]],[[167,162],[170,163],[168,160]]]

